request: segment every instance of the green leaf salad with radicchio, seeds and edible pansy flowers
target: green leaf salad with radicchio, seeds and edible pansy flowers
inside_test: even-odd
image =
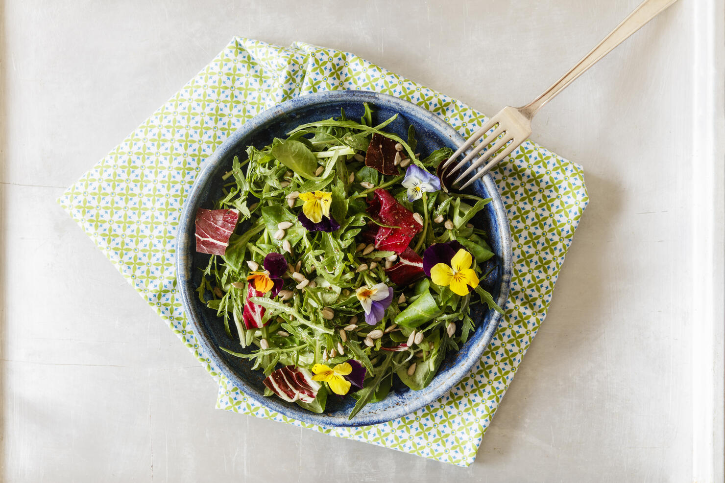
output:
[[[222,349],[263,371],[270,397],[315,413],[355,398],[350,419],[391,387],[426,387],[475,329],[474,303],[501,312],[471,223],[490,199],[447,192],[433,173],[450,148],[420,159],[412,126],[399,138],[385,130],[397,114],[372,114],[249,146],[196,213],[199,299],[239,341]]]

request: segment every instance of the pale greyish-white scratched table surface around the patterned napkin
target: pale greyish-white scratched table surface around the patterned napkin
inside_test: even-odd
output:
[[[353,51],[493,113],[637,0],[4,2],[2,479],[691,481],[692,1],[534,121],[591,202],[469,469],[216,410],[206,371],[55,200],[234,35]]]

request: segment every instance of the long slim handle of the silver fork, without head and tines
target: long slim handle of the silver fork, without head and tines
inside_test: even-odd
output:
[[[594,49],[589,51],[574,67],[566,72],[559,80],[557,80],[550,88],[544,91],[539,97],[535,98],[526,106],[520,107],[518,110],[531,119],[544,104],[549,102],[554,96],[564,90],[567,85],[571,84],[576,77],[584,74],[584,72],[592,67],[599,59],[609,54],[609,52],[626,41],[629,35],[637,32],[642,25],[652,20],[664,9],[674,4],[677,0],[645,0],[629,14],[621,24],[612,30],[604,40],[602,40]]]

